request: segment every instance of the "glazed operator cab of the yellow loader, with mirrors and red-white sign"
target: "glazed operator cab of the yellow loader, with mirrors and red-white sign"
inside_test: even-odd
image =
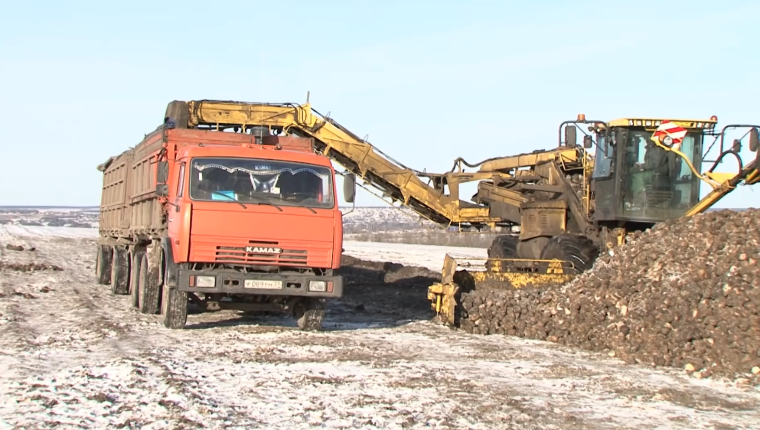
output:
[[[589,178],[588,219],[600,238],[605,231],[615,231],[613,236],[619,238],[617,243],[600,245],[616,246],[626,233],[703,212],[741,182],[757,181],[758,145],[753,142],[758,126],[728,125],[716,130],[717,121],[716,116],[709,120],[624,118],[589,124],[584,138],[591,138],[596,151]],[[563,125],[577,129],[580,122]],[[727,131],[733,129],[745,132],[728,145]],[[749,162],[742,158],[743,141],[752,153]],[[736,161],[736,168],[718,172],[718,167],[731,164],[726,163],[728,159]],[[719,196],[701,198],[702,183]]]

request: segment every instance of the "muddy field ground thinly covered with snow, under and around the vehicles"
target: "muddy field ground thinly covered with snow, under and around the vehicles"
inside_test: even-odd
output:
[[[95,234],[0,226],[0,428],[760,428],[756,388],[373,313],[351,289],[319,333],[233,311],[168,330],[95,283]],[[446,252],[484,252],[346,249],[435,271]],[[9,266],[31,262],[63,270]]]

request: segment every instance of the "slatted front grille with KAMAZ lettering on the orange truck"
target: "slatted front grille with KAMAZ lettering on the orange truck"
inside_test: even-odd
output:
[[[249,241],[247,246],[217,246],[217,263],[306,266],[308,252],[283,249],[278,242]]]

